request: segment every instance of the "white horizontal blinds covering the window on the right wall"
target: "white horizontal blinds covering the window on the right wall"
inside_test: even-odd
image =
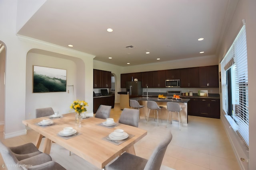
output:
[[[249,146],[249,112],[248,112],[248,68],[246,29],[243,25],[228,53],[220,63],[222,110],[228,114],[228,87],[226,70],[232,66],[232,98],[234,119],[238,125],[238,132]]]

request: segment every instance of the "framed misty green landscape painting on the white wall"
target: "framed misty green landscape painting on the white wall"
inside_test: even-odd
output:
[[[33,93],[66,92],[67,70],[33,66]]]

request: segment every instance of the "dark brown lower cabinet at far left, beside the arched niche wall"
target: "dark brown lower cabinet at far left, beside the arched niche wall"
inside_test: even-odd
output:
[[[111,106],[114,108],[115,96],[100,96],[93,98],[93,113],[95,114],[100,105]]]

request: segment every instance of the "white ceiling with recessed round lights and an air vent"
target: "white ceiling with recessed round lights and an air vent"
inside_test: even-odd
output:
[[[68,48],[120,66],[215,55],[234,10],[230,8],[232,3],[47,0],[18,34],[63,47],[72,44],[74,47]],[[107,32],[107,28],[114,31]],[[201,37],[204,40],[198,41]],[[135,48],[127,49],[130,45]]]

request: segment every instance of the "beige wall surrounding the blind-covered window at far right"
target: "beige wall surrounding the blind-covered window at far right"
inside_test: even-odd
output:
[[[256,89],[255,89],[255,72],[256,72],[256,1],[255,0],[240,0],[236,8],[236,12],[233,16],[232,22],[229,25],[228,31],[226,32],[222,44],[220,45],[220,51],[218,54],[219,61],[225,56],[226,52],[232,45],[236,35],[242,27],[242,19],[246,20],[246,39],[247,39],[247,57],[248,57],[248,88],[249,88],[249,152],[246,150],[244,145],[241,145],[240,137],[237,137],[234,131],[229,128],[230,124],[226,119],[224,114],[220,114],[224,126],[228,133],[228,136],[233,139],[232,144],[234,151],[237,154],[238,161],[240,158],[250,159],[250,163],[240,162],[244,169],[255,170],[256,169],[256,135],[255,129],[256,125],[254,121],[256,120],[256,115],[254,111],[256,109]],[[221,93],[220,93],[221,94]],[[249,157],[248,157],[249,155]]]

